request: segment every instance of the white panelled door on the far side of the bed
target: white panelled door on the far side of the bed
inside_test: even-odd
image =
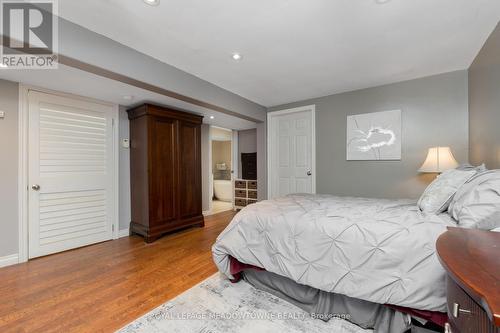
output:
[[[269,197],[315,193],[314,106],[268,114]]]

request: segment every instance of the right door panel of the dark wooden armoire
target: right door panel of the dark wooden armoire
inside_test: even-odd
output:
[[[201,211],[200,127],[179,121],[179,217]]]

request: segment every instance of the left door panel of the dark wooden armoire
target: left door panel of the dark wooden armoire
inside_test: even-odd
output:
[[[150,117],[150,207],[151,227],[175,221],[176,121]]]

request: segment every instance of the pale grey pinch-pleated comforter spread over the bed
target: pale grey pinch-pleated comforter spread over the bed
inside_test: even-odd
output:
[[[438,236],[453,226],[408,200],[291,195],[243,209],[212,248],[298,283],[381,304],[445,311]]]

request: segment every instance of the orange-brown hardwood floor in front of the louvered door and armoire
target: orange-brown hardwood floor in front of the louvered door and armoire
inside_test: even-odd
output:
[[[113,332],[217,269],[211,246],[234,212],[146,244],[138,236],[0,269],[0,332]]]

